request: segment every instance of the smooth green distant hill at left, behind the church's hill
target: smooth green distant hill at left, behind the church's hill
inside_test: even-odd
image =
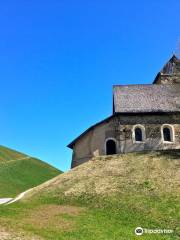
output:
[[[0,198],[14,197],[60,173],[39,159],[0,146]]]

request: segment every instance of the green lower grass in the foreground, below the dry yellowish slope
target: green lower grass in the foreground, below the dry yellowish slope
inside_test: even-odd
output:
[[[39,209],[46,211],[48,206],[57,207],[57,215],[46,215],[46,222],[40,226],[32,222],[43,222]],[[59,206],[82,208],[79,214],[58,212]],[[86,196],[81,199],[46,199],[31,203],[17,203],[0,207],[0,225],[8,226],[27,236],[39,236],[53,240],[178,240],[180,238],[180,203],[173,196],[145,196],[131,193],[123,196],[98,198]],[[39,216],[40,215],[40,216]],[[68,228],[62,225],[68,225]],[[137,237],[134,229],[143,228],[173,229],[173,234],[145,234]]]

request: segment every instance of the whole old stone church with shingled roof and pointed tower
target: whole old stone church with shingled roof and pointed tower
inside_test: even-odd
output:
[[[152,84],[113,86],[113,114],[68,147],[71,167],[99,155],[180,149],[180,59],[174,55]]]

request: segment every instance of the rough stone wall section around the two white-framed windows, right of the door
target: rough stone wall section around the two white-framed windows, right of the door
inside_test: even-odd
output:
[[[120,118],[120,135],[122,152],[163,150],[180,148],[180,115],[141,115],[122,116]],[[132,128],[134,125],[145,127],[145,140],[142,143],[135,143],[132,139]],[[162,125],[168,124],[174,128],[174,142],[165,143],[161,132]],[[126,132],[126,137],[123,132]],[[123,137],[124,136],[124,137]]]

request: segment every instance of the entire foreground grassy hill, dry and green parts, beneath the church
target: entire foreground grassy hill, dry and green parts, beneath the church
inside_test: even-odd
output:
[[[97,157],[0,207],[0,229],[21,239],[178,240],[179,219],[179,151]]]

